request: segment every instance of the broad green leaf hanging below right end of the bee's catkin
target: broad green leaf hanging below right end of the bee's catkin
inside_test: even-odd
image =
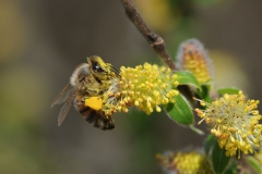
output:
[[[166,111],[168,116],[179,124],[190,125],[193,123],[193,112],[188,100],[180,94],[175,97],[176,103],[168,103]]]

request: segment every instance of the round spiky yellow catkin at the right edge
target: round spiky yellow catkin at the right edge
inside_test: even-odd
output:
[[[227,156],[253,153],[262,145],[261,115],[258,108],[259,100],[245,100],[242,91],[237,95],[224,95],[212,103],[205,103],[206,109],[195,109],[196,114],[205,120],[218,138],[221,148],[225,148]],[[259,133],[259,134],[258,134]],[[240,156],[238,156],[240,158]]]

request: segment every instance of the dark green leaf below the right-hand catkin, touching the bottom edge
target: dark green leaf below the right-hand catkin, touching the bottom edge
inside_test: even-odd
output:
[[[227,167],[227,164],[230,160],[229,157],[226,157],[225,149],[221,149],[218,142],[216,142],[212,149],[212,164],[216,174],[223,174]]]

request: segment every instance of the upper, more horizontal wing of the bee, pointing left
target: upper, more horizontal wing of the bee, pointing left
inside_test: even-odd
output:
[[[52,101],[51,108],[55,104],[64,102],[69,98],[69,96],[71,96],[71,94],[74,91],[74,88],[75,87],[73,87],[71,84],[68,84],[55,98],[55,100]]]

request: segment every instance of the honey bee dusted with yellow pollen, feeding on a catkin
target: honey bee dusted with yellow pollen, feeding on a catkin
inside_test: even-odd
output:
[[[100,97],[109,88],[110,80],[119,78],[119,71],[111,64],[105,63],[99,57],[87,58],[87,63],[80,64],[70,77],[70,83],[56,97],[51,107],[63,103],[58,115],[58,126],[66,119],[72,103],[81,115],[95,127],[112,129],[115,127],[111,116],[106,115],[102,109],[95,110],[85,105],[85,99]]]

